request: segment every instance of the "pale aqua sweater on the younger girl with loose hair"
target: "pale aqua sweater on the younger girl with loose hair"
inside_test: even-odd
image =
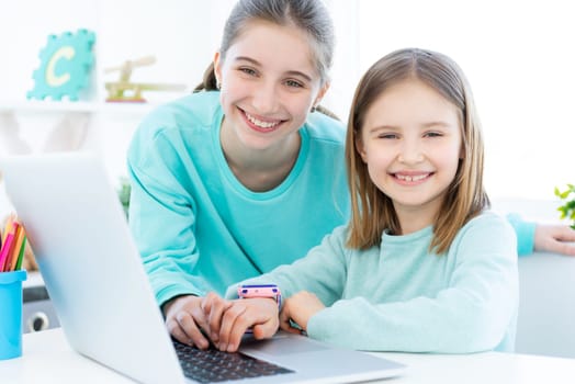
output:
[[[432,228],[384,234],[367,251],[345,247],[346,227],[291,266],[248,283],[275,283],[285,298],[315,293],[327,306],[307,335],[369,351],[512,351],[518,307],[517,245],[509,223],[486,212],[446,255],[430,255]],[[237,284],[227,297],[237,296]]]

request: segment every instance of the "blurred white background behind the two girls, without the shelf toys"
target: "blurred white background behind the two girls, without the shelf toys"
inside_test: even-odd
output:
[[[191,92],[201,80],[234,2],[4,3],[0,12],[0,155],[65,146],[95,150],[117,180],[125,174],[125,151],[138,122],[158,104]],[[324,104],[343,121],[356,83],[381,56],[406,46],[439,50],[461,65],[474,90],[486,136],[486,183],[493,200],[556,202],[554,187],[575,181],[571,165],[575,23],[567,1],[326,3],[336,24],[337,47],[332,86]],[[78,29],[95,33],[92,79],[80,102],[26,101],[47,36]],[[104,69],[149,55],[156,63],[136,68],[131,80],[184,88],[144,92],[147,103],[137,105],[105,103],[104,82],[116,81],[119,72]],[[55,144],[56,139],[66,143]]]

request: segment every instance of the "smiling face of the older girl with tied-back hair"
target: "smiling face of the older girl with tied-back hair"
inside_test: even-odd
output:
[[[282,146],[327,90],[309,37],[294,26],[252,21],[225,53],[216,54],[223,129],[249,149]]]

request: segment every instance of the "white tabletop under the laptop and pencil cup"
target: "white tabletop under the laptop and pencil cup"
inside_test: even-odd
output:
[[[22,358],[0,361],[2,384],[133,383],[74,352],[60,328],[24,335]],[[573,384],[575,359],[486,352],[475,354],[373,353],[408,365],[388,384]]]

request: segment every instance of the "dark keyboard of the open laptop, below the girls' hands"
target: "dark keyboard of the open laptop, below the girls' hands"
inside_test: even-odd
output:
[[[183,374],[200,383],[217,383],[294,372],[244,353],[223,352],[215,348],[200,350],[177,340],[172,341]]]

